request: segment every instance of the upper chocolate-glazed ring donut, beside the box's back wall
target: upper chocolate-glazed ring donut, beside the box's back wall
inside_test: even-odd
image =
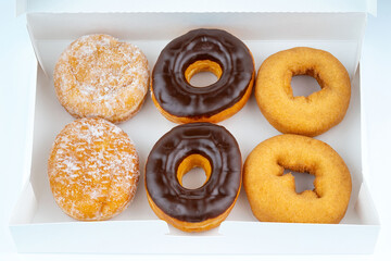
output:
[[[207,71],[216,83],[199,88],[190,78]],[[220,29],[194,29],[172,40],[152,71],[151,96],[159,111],[174,123],[217,123],[248,101],[255,77],[247,46]]]

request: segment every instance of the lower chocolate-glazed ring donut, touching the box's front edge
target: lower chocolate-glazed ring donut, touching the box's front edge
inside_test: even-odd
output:
[[[205,171],[195,189],[182,186],[192,167]],[[229,214],[241,186],[241,154],[234,136],[212,123],[174,127],[152,148],[146,164],[148,202],[162,220],[185,232],[218,226]]]

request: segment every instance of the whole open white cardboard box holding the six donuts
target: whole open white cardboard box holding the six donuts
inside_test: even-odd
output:
[[[34,1],[36,4],[45,1]],[[115,1],[117,2],[117,1]],[[248,2],[248,1],[245,1]],[[287,1],[277,1],[287,2]],[[304,3],[305,1],[299,1]],[[332,1],[331,1],[332,2]],[[367,1],[357,1],[361,4]],[[373,1],[369,1],[369,3]],[[37,7],[37,5],[33,5]],[[38,4],[39,7],[39,4]],[[119,5],[118,5],[119,7]],[[328,5],[329,7],[329,5]],[[166,8],[166,7],[165,7]],[[26,184],[10,222],[20,252],[106,252],[106,253],[370,253],[380,229],[378,216],[363,173],[367,170],[362,123],[360,55],[367,5],[335,7],[324,12],[298,12],[291,8],[255,8],[254,12],[29,12],[27,27],[38,59],[35,105],[31,108],[31,151]],[[300,8],[300,5],[299,5]],[[166,8],[167,9],[167,8]],[[218,7],[213,5],[212,11]],[[314,8],[315,5],[314,5]],[[34,10],[34,9],[33,9]],[[353,10],[353,11],[352,11]],[[39,9],[38,9],[39,11]],[[113,10],[110,10],[113,11]],[[114,10],[118,11],[118,10]],[[140,11],[143,11],[142,8]],[[178,10],[176,10],[178,11]],[[342,12],[336,12],[342,11]],[[316,138],[333,147],[348,164],[353,191],[340,224],[286,224],[258,222],[251,212],[244,189],[226,221],[217,228],[199,234],[180,232],[159,220],[147,202],[143,166],[155,141],[176,124],[163,117],[148,97],[141,111],[119,124],[136,142],[140,157],[141,182],[134,202],[122,214],[105,222],[78,222],[55,204],[47,178],[47,159],[59,132],[73,117],[59,103],[52,73],[60,53],[81,35],[105,33],[139,46],[150,69],[163,47],[190,29],[222,28],[242,39],[254,55],[256,70],[272,53],[308,46],[331,52],[346,67],[352,79],[352,98],[345,119]],[[365,72],[364,72],[365,73]],[[316,82],[298,76],[295,95],[314,90]],[[34,104],[34,102],[31,102]],[[237,138],[243,160],[262,140],[278,135],[260,112],[252,96],[232,117],[219,123]],[[34,129],[34,132],[33,132]],[[307,181],[303,181],[304,183]],[[104,247],[103,247],[104,246]]]

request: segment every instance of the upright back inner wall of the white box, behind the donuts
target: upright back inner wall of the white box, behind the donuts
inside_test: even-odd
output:
[[[152,24],[153,26],[151,26]],[[28,13],[27,27],[39,64],[52,75],[61,52],[73,40],[88,34],[109,34],[144,47],[161,41],[161,48],[173,38],[200,27],[224,28],[247,44],[251,41],[291,42],[287,47],[311,46],[325,49],[330,41],[339,47],[352,44],[341,55],[353,77],[361,55],[366,13],[242,13],[242,12],[144,12],[144,13]],[[126,26],[124,26],[126,25]],[[251,26],[249,26],[251,25]],[[168,30],[166,28],[169,28]],[[151,41],[152,40],[152,41]],[[54,46],[50,44],[54,41]],[[49,46],[48,46],[49,44]],[[285,48],[287,48],[285,47]],[[53,49],[55,48],[55,49]],[[281,49],[282,48],[282,49]],[[50,53],[50,54],[49,54]],[[155,61],[149,57],[151,64]],[[261,57],[262,61],[265,57]]]

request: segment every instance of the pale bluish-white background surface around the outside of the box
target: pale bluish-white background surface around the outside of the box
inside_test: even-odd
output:
[[[388,196],[391,175],[387,162],[391,153],[391,84],[389,61],[391,60],[391,1],[378,1],[378,15],[368,17],[363,47],[362,84],[363,104],[366,111],[368,135],[368,158],[370,176],[366,176],[369,189],[379,211],[381,232],[373,256],[332,256],[343,260],[386,260],[391,259],[391,197]],[[8,221],[17,195],[22,188],[24,170],[21,159],[25,157],[25,133],[27,122],[27,97],[34,91],[28,89],[35,71],[35,55],[30,47],[23,15],[15,15],[15,3],[4,0],[0,3],[0,260],[184,260],[182,256],[54,256],[16,254]],[[197,246],[194,246],[197,247]],[[288,257],[217,257],[195,256],[187,260],[286,260]],[[330,257],[293,256],[290,260],[328,260]]]

